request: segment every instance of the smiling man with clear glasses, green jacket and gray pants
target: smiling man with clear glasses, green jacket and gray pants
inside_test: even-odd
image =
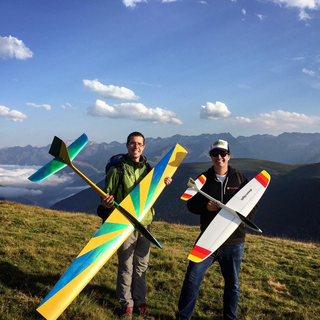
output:
[[[150,166],[148,166],[147,158],[142,156],[142,151],[145,148],[145,140],[142,133],[130,133],[126,147],[128,153],[118,160],[124,164],[123,183],[118,184],[118,173],[115,166],[112,166],[107,172],[106,185],[103,189],[107,196],[102,200],[102,205],[108,209],[112,207],[113,199],[120,203],[148,174],[148,167]],[[171,181],[170,177],[164,178],[165,185],[169,185]],[[155,212],[151,208],[141,220],[141,223],[149,231],[154,214]],[[117,250],[116,296],[121,305],[119,317],[122,319],[131,319],[132,312],[146,319],[154,319],[149,315],[146,304],[145,276],[148,268],[149,253],[150,241],[141,236],[136,230]]]

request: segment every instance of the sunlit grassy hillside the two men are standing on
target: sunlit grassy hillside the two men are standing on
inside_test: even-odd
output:
[[[87,214],[0,201],[0,319],[42,319],[36,306],[100,227]],[[150,311],[174,319],[187,256],[198,227],[156,222],[147,271]],[[239,319],[320,318],[319,244],[248,235],[240,271]],[[114,255],[59,319],[115,319]],[[223,279],[218,263],[204,277],[193,319],[219,319]],[[139,319],[139,318],[136,318]]]

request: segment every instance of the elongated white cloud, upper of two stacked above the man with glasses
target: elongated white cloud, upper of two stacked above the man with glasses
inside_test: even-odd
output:
[[[125,87],[117,87],[112,84],[104,85],[97,79],[95,80],[82,80],[86,88],[93,92],[97,92],[101,96],[109,99],[121,99],[121,100],[138,100],[139,97],[134,92]]]

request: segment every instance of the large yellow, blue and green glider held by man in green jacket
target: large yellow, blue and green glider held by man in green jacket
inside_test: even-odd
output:
[[[56,141],[53,141],[54,143],[52,143],[52,148],[50,148],[50,153],[56,156],[56,158],[53,159],[55,162],[53,164],[50,164],[49,162],[32,176],[30,176],[29,179],[32,181],[41,181],[68,164],[87,183],[89,183],[90,180],[87,179],[81,172],[79,172],[72,165],[70,160],[71,150],[73,152],[73,157],[75,157],[76,154],[84,147],[86,143],[85,140],[88,141],[86,135],[84,134],[79,137],[68,147],[68,149],[62,140],[56,137],[55,139]],[[70,159],[68,159],[68,152],[70,153]],[[114,252],[116,252],[119,246],[132,233],[132,231],[135,228],[140,228],[136,225],[135,221],[140,223],[164,189],[164,178],[168,176],[172,177],[173,173],[176,171],[186,154],[187,151],[179,144],[176,144],[148,173],[148,175],[131,191],[131,193],[126,196],[119,205],[116,204],[117,207],[115,210],[102,224],[100,229],[94,234],[92,239],[79,253],[70,267],[61,276],[60,280],[55,284],[52,290],[38,306],[37,311],[42,316],[44,316],[47,320],[57,319],[68,307],[68,305],[76,298],[79,292],[81,292],[85,285],[109,260]],[[60,158],[63,160],[60,161]],[[59,169],[57,169],[57,162],[63,165]],[[48,169],[49,164],[54,168]],[[46,166],[47,168],[45,168]],[[50,169],[55,171],[50,173]],[[103,191],[91,181],[89,185],[101,196],[105,195]],[[122,209],[129,213],[130,217],[125,216]]]

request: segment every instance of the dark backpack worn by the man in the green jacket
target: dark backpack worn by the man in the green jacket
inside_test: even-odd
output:
[[[118,173],[118,185],[116,187],[116,191],[114,194],[114,197],[116,198],[116,195],[118,194],[118,188],[119,185],[122,186],[122,199],[124,199],[124,182],[123,182],[123,176],[124,176],[124,163],[122,161],[118,161],[119,159],[121,159],[122,157],[124,157],[125,154],[124,153],[119,153],[115,156],[112,156],[107,165],[106,165],[106,178],[105,178],[105,184],[107,183],[107,174],[108,174],[108,170],[112,167],[115,166],[117,169],[117,173]],[[150,164],[148,162],[146,162],[146,168],[147,168],[147,172],[149,173],[152,168],[150,166]],[[113,209],[106,209],[102,204],[99,204],[97,207],[97,215],[102,219],[102,224],[108,219],[109,215],[111,214]]]

